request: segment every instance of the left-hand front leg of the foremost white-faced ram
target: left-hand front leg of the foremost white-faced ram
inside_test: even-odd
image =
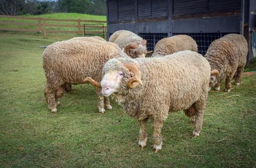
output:
[[[140,126],[139,146],[141,147],[141,149],[143,149],[146,146],[146,142],[147,142],[147,125],[146,125],[147,120],[148,119],[139,121],[139,126]]]

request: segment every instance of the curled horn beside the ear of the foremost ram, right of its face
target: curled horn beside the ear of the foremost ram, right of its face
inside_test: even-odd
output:
[[[141,72],[135,64],[125,63],[123,64],[125,68],[127,68],[130,72],[133,72],[134,76],[129,78],[126,82],[127,88],[133,89],[136,88],[139,83],[143,85],[141,81]]]

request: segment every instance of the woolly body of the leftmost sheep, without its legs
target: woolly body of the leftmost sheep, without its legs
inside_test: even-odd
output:
[[[120,48],[107,44],[87,41],[61,41],[49,45],[43,56],[43,66],[47,74],[60,77],[69,83],[82,83],[90,76],[101,79],[101,70],[106,61],[117,57]],[[110,54],[112,53],[112,54]]]

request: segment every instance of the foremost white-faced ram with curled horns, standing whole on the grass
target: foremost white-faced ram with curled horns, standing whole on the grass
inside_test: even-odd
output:
[[[115,58],[105,63],[102,73],[100,83],[91,77],[84,81],[93,81],[104,96],[112,95],[126,114],[138,120],[141,149],[146,146],[150,118],[155,152],[161,150],[161,127],[169,110],[183,109],[194,117],[193,137],[199,136],[210,79],[210,65],[201,54],[187,50],[157,58]]]

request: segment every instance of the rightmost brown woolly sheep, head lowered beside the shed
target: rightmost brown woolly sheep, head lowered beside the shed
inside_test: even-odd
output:
[[[225,79],[225,91],[230,92],[233,78],[240,85],[247,53],[247,41],[242,35],[228,34],[213,41],[205,54],[213,72],[209,87],[220,91],[221,80]]]

